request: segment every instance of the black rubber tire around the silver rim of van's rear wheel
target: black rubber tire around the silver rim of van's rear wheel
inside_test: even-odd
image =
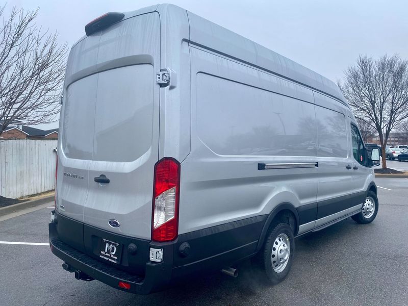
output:
[[[287,264],[282,271],[276,272],[272,267],[273,258],[275,256],[272,254],[272,251],[276,251],[275,248],[275,240],[280,239],[278,238],[279,235],[286,235],[289,238],[289,257],[287,260]],[[265,244],[263,248],[260,250],[259,259],[260,259],[260,267],[266,274],[267,282],[276,285],[282,282],[285,277],[288,275],[290,268],[293,262],[293,255],[295,252],[295,239],[293,237],[293,231],[289,224],[287,223],[278,223],[271,225],[267,237],[265,238]],[[275,248],[275,250],[273,250]]]

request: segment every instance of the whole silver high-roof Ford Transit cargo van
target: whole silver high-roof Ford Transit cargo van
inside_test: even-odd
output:
[[[276,284],[294,237],[375,218],[379,151],[368,156],[333,82],[173,5],[85,32],[49,223],[77,279],[147,294],[253,258]]]

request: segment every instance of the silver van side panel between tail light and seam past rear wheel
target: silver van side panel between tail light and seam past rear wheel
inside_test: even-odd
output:
[[[316,161],[312,91],[193,46],[190,54],[192,148],[181,168],[179,234],[268,215],[283,202],[316,203],[317,167],[258,170]]]

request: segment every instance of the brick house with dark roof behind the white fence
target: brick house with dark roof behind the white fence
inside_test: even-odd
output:
[[[57,140],[58,129],[40,130],[27,125],[8,126],[0,139]]]

